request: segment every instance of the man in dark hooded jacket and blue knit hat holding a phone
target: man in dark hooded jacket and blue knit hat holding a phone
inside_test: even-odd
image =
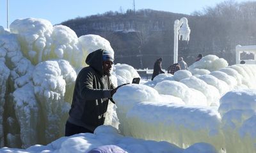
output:
[[[113,52],[102,49],[86,57],[89,66],[77,75],[65,136],[93,133],[104,124],[109,99],[120,87],[115,88],[109,79],[113,61]]]

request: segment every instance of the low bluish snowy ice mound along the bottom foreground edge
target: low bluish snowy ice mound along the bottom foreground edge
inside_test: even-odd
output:
[[[217,153],[208,143],[195,143],[188,149],[182,149],[168,142],[156,142],[122,136],[111,126],[99,126],[94,133],[81,133],[74,136],[62,137],[46,146],[34,145],[28,149],[0,149],[1,152],[56,152],[56,153],[84,153],[102,145],[116,145],[126,152],[132,153]]]

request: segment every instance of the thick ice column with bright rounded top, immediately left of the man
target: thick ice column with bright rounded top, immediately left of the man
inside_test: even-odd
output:
[[[42,71],[44,69],[45,71]],[[67,80],[65,80],[67,78]],[[72,96],[72,91],[66,91],[66,82],[74,84],[76,71],[67,61],[45,61],[39,63],[33,72],[35,97],[40,105],[40,119],[44,122],[42,138],[47,143],[63,136],[64,123],[70,109],[70,101],[65,101],[65,93]]]

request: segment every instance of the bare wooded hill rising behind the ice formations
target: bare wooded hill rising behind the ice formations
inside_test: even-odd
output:
[[[163,68],[173,63],[173,24],[188,18],[190,40],[179,41],[179,56],[188,65],[198,54],[214,54],[228,63],[236,62],[236,45],[256,45],[256,2],[225,1],[191,15],[155,10],[108,11],[100,15],[79,17],[61,24],[77,36],[98,34],[115,50],[115,62],[134,68],[152,68],[163,57]],[[243,54],[241,58],[251,58]]]

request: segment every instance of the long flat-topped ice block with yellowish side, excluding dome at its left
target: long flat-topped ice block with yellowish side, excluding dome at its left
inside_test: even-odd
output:
[[[125,120],[129,123],[125,133],[136,138],[165,140],[183,148],[195,142],[223,147],[220,114],[212,108],[141,102],[127,112]]]

